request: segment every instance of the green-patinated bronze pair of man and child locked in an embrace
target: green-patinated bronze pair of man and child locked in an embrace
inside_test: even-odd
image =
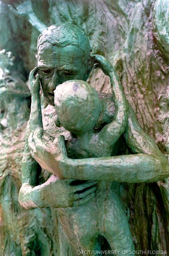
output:
[[[127,250],[128,255],[134,245],[118,196],[120,183],[168,177],[168,160],[138,125],[112,64],[91,55],[89,41],[77,26],[50,26],[40,35],[37,49],[37,67],[29,77],[32,105],[20,204],[26,209],[58,208],[60,256],[66,255],[67,246],[70,256],[79,247],[119,250],[120,255]],[[93,66],[109,76],[112,95],[97,94],[84,82]],[[40,85],[57,115],[53,107],[41,111]],[[112,101],[115,108],[107,103]],[[126,147],[130,154],[125,154]],[[53,174],[39,186],[37,163],[43,175]]]

